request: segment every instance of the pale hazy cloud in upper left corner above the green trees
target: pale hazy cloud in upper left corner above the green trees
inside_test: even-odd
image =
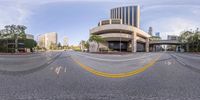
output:
[[[27,24],[31,8],[17,1],[0,2],[0,28],[8,24]]]

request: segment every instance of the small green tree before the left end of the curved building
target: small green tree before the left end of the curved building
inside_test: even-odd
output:
[[[91,35],[89,38],[90,42],[96,42],[97,43],[97,50],[99,51],[99,43],[104,42],[104,39],[99,35]]]

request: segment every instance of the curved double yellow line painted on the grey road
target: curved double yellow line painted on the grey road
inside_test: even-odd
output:
[[[156,59],[150,61],[149,63],[147,63],[146,65],[144,65],[141,68],[138,68],[136,70],[130,71],[130,72],[124,72],[124,73],[119,73],[119,74],[111,74],[111,73],[106,73],[106,72],[101,72],[101,71],[97,71],[95,69],[92,69],[91,67],[88,67],[84,64],[82,64],[81,62],[79,62],[78,60],[72,58],[80,67],[82,67],[84,70],[97,75],[97,76],[102,76],[102,77],[107,77],[107,78],[124,78],[124,77],[129,77],[129,76],[133,76],[136,74],[139,74],[141,72],[144,72],[145,70],[147,70],[149,67],[153,66],[156,61],[160,58],[161,55],[159,55],[158,57],[156,57]]]

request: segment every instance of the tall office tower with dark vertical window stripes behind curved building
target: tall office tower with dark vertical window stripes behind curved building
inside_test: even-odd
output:
[[[122,24],[140,28],[140,6],[125,6],[111,9],[111,19],[122,19]]]

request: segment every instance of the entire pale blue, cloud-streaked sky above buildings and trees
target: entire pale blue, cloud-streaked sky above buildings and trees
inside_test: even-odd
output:
[[[140,5],[140,28],[148,32],[179,35],[184,30],[200,28],[199,0],[0,0],[0,29],[5,25],[27,26],[27,33],[37,36],[57,32],[58,41],[68,44],[87,40],[89,30],[110,17],[110,9]]]

